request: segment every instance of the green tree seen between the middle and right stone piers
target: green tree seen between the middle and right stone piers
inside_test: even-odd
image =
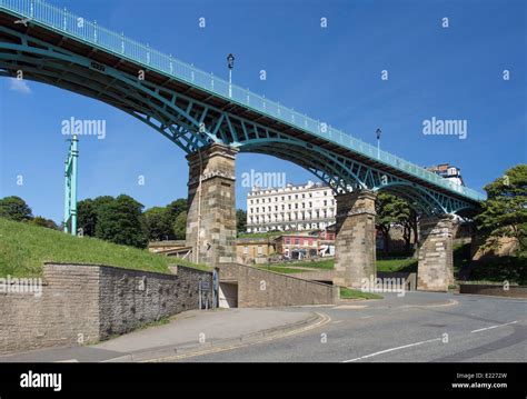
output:
[[[382,252],[388,255],[390,250],[390,228],[392,225],[402,225],[410,215],[408,203],[392,194],[380,192],[375,202],[377,217],[375,218],[376,227],[382,235],[385,246]]]

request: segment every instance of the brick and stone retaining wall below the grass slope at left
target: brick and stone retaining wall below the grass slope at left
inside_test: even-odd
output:
[[[199,280],[212,287],[211,273],[173,271],[47,263],[40,297],[0,293],[0,353],[95,342],[197,309]]]

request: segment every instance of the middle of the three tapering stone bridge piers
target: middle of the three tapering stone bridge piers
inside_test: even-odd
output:
[[[339,194],[335,241],[334,285],[360,288],[377,277],[375,200],[369,190]]]

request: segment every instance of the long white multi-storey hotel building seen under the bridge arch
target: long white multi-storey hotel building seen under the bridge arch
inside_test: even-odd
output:
[[[247,194],[247,232],[325,229],[335,223],[336,211],[332,191],[322,183],[253,187]]]

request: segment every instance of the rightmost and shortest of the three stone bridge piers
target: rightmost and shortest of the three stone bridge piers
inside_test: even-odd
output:
[[[417,289],[447,291],[454,283],[453,220],[448,215],[419,222]]]

